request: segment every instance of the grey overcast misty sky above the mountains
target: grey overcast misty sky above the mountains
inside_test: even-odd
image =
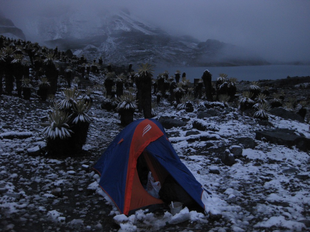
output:
[[[125,7],[143,22],[172,35],[191,35],[200,41],[217,39],[251,48],[268,61],[310,61],[310,1],[207,0],[0,0],[0,10],[23,29],[23,18],[48,16],[67,7],[95,13]],[[57,10],[60,14],[61,11]],[[94,13],[92,13],[94,12]],[[26,34],[27,36],[27,34]]]

